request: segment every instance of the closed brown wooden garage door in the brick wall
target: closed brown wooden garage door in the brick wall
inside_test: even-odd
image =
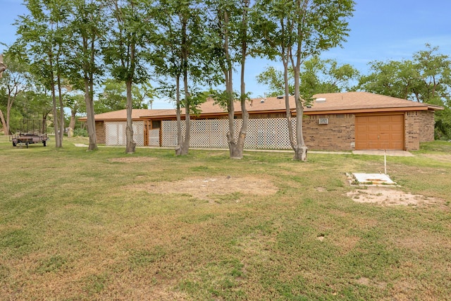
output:
[[[404,149],[404,115],[356,116],[355,149]]]

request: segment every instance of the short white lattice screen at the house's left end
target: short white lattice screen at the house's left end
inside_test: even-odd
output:
[[[133,140],[138,147],[144,146],[144,121],[133,121]],[[105,123],[105,145],[106,146],[125,146],[127,138],[125,135],[127,123],[106,122]]]

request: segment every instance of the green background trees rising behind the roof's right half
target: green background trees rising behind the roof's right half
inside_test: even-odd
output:
[[[316,56],[302,66],[302,89],[309,94],[365,91],[443,106],[443,111],[435,111],[435,139],[451,140],[451,59],[440,54],[438,47],[426,44],[425,48],[412,59],[372,61],[368,75],[360,74],[350,64],[339,65],[333,59]],[[283,94],[281,70],[268,67],[257,81],[269,87],[267,95]],[[291,81],[290,94],[293,90]]]

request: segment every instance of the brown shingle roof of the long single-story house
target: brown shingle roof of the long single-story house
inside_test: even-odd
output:
[[[314,95],[314,101],[310,107],[304,108],[306,114],[319,113],[350,113],[350,112],[374,112],[374,111],[412,111],[412,110],[440,110],[440,106],[412,102],[407,99],[388,97],[369,92],[345,92],[345,93],[324,93]],[[213,99],[209,99],[198,106],[202,115],[221,115],[226,113]],[[246,109],[249,113],[284,112],[285,97],[266,97],[265,99],[252,99],[246,102]],[[290,109],[295,111],[295,97],[290,96]],[[185,114],[182,110],[182,114]],[[235,102],[235,113],[241,112],[240,102]],[[175,117],[175,109],[133,109],[132,118],[163,118]],[[96,120],[125,120],[126,110],[101,113],[95,116]],[[80,118],[86,120],[86,118]]]

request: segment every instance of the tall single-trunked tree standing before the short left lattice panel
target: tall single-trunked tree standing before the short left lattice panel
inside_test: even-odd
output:
[[[125,128],[125,152],[135,152],[132,128],[132,85],[149,78],[149,35],[154,25],[149,22],[152,0],[108,0],[112,17],[109,41],[104,47],[106,64],[116,80],[125,82],[127,88],[127,127]]]

